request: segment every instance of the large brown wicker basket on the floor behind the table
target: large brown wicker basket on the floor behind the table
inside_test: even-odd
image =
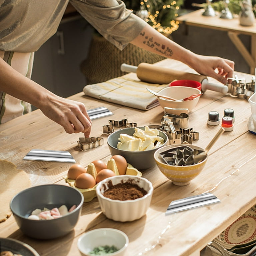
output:
[[[138,66],[141,62],[153,64],[165,59],[158,54],[128,44],[122,51],[102,36],[94,35],[88,58],[81,63],[81,71],[87,84],[95,84],[125,75],[120,70],[122,63]]]

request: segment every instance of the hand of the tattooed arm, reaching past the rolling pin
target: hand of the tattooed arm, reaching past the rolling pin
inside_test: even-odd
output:
[[[234,61],[214,56],[203,56],[195,54],[190,66],[199,74],[210,76],[227,84],[228,78],[233,77]]]

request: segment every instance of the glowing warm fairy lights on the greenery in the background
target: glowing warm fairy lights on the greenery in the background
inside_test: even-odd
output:
[[[173,31],[178,29],[179,22],[172,19],[170,20],[170,25],[167,25],[167,26],[162,25],[159,18],[161,10],[159,10],[159,6],[158,8],[154,8],[153,6],[154,2],[156,5],[157,2],[152,0],[143,0],[140,2],[141,7],[146,9],[148,12],[148,15],[147,15],[148,17],[146,18],[145,21],[150,23],[151,26],[155,28],[157,31],[164,34],[171,34]],[[180,7],[177,6],[176,4],[177,4],[176,1],[172,1],[170,4],[163,4],[162,7],[160,6],[160,8],[162,8],[162,10],[172,9],[172,11],[174,12],[174,17],[177,17],[178,14],[176,12],[179,10]],[[158,10],[154,11],[154,9],[158,9]]]

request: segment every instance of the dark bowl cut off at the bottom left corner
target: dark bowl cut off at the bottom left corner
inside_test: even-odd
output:
[[[40,256],[30,245],[12,238],[0,238],[0,252],[11,251],[23,256]]]

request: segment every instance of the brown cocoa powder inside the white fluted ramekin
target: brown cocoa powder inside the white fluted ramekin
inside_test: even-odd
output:
[[[108,197],[113,200],[134,200],[141,198],[147,194],[147,191],[137,184],[131,184],[129,182],[118,183],[109,187],[104,193],[103,196]]]

